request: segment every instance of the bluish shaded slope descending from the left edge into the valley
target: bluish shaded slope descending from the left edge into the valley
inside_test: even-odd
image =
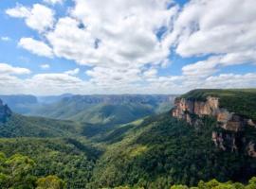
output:
[[[28,117],[13,113],[0,100],[0,137],[61,137],[79,136],[80,124],[72,121],[54,120],[43,117]]]

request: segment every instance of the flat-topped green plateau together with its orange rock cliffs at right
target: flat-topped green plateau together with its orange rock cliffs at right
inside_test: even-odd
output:
[[[217,123],[212,141],[223,150],[243,148],[256,158],[256,90],[193,90],[176,98],[173,115],[200,127],[200,118],[212,116]]]

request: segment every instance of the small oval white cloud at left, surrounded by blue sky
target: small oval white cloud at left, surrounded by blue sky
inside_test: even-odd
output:
[[[48,58],[53,57],[52,49],[46,43],[34,40],[32,38],[22,38],[18,45],[33,54]]]

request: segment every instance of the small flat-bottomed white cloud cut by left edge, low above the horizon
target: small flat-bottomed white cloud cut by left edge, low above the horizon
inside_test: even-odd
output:
[[[27,75],[30,70],[22,67],[14,67],[7,63],[0,63],[0,75]]]

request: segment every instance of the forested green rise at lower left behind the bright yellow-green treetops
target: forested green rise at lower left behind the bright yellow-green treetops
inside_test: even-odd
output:
[[[0,150],[8,155],[20,153],[31,157],[36,163],[34,176],[56,175],[66,182],[67,188],[85,187],[99,155],[99,150],[86,142],[68,138],[1,139]]]

